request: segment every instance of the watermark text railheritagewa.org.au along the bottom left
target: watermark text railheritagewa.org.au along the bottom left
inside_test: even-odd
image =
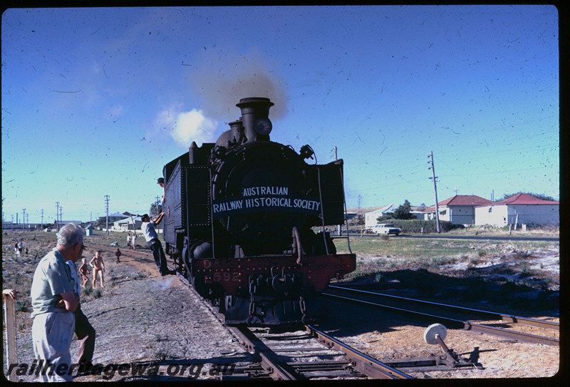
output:
[[[59,364],[57,367],[47,361],[41,359],[34,359],[32,363],[14,363],[8,367],[8,374],[15,374],[16,376],[41,376],[53,375],[59,376],[73,375],[79,376],[80,374],[99,375],[104,380],[109,380],[115,376],[182,376],[190,379],[197,379],[200,376],[217,377],[221,375],[232,375],[234,373],[235,364],[199,364],[199,363],[171,363],[163,364],[158,363],[108,363],[93,364],[92,366],[84,366],[78,363],[73,364]]]

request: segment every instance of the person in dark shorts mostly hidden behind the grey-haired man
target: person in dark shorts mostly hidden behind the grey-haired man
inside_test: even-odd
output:
[[[79,260],[77,259],[70,259],[66,262],[68,265],[71,277],[73,277],[74,281],[74,288],[73,291],[77,294],[78,299],[81,299],[81,286],[79,284],[79,275],[78,269],[76,267],[76,262]],[[83,258],[83,264],[81,267],[86,266],[85,258]],[[85,279],[83,279],[83,284],[85,284]],[[79,364],[79,369],[83,368],[83,371],[86,368],[90,368],[92,365],[91,361],[93,360],[93,352],[95,351],[95,328],[90,324],[87,316],[83,314],[81,311],[81,301],[79,302],[77,309],[75,311],[76,316],[76,329],[75,333],[77,336],[77,341],[79,342],[79,346],[77,349],[77,361],[76,363]]]

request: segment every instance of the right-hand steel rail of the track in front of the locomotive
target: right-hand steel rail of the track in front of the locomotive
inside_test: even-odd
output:
[[[316,336],[319,341],[324,342],[327,346],[341,351],[349,360],[351,360],[356,369],[366,376],[371,376],[373,378],[382,379],[411,379],[412,377],[398,371],[395,368],[387,366],[381,361],[371,358],[370,356],[363,354],[361,351],[353,349],[351,346],[344,344],[342,341],[334,339],[328,336],[322,331],[314,328],[314,326],[307,325],[306,330],[312,335]]]

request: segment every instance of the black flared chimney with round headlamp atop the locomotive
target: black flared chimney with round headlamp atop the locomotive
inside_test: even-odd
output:
[[[246,143],[269,141],[271,132],[269,108],[273,105],[269,98],[254,97],[239,100],[236,106],[242,110]]]

